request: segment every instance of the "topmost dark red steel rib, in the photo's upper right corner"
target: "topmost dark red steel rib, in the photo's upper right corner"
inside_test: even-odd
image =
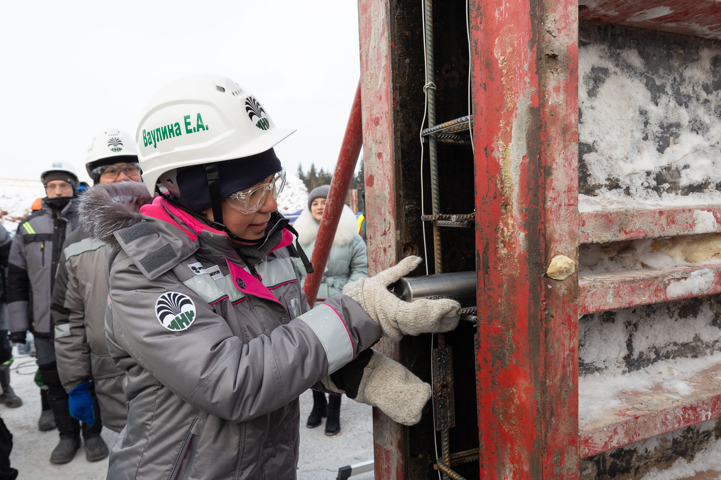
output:
[[[579,17],[596,22],[721,40],[717,0],[579,0]]]

